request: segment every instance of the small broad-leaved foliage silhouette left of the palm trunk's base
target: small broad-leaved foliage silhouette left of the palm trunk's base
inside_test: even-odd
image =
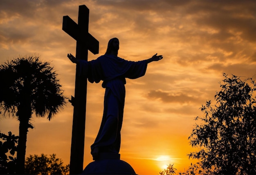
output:
[[[16,157],[13,155],[17,151],[18,136],[0,132],[0,139],[0,174],[15,174]]]

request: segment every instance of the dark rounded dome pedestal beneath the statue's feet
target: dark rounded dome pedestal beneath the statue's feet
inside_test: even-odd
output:
[[[133,168],[120,160],[120,154],[100,153],[99,159],[88,164],[82,175],[136,175]]]

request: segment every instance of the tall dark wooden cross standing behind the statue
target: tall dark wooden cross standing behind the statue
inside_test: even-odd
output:
[[[76,58],[88,60],[88,49],[93,54],[99,54],[99,41],[88,33],[89,9],[79,6],[78,24],[69,16],[63,16],[62,29],[76,40]],[[83,171],[83,154],[85,139],[87,81],[78,76],[76,70],[75,97],[69,100],[74,106],[72,140],[70,153],[70,174],[80,174]]]

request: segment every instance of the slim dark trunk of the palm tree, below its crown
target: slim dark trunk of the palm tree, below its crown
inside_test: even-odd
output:
[[[18,119],[20,121],[19,126],[19,139],[17,146],[17,164],[16,174],[25,174],[25,155],[26,155],[26,143],[27,143],[27,132],[29,128],[29,119],[31,117],[31,109],[18,110]]]

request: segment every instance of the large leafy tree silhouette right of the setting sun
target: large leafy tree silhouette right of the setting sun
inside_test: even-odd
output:
[[[189,157],[198,159],[206,174],[256,174],[256,83],[252,78],[242,81],[234,75],[223,76],[216,104],[207,101],[200,108],[204,117],[195,118],[200,124],[189,139],[200,150]]]

